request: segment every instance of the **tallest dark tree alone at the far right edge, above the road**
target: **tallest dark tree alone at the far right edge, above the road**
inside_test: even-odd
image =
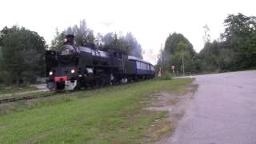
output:
[[[221,35],[224,47],[232,51],[231,70],[243,70],[255,66],[256,18],[238,13],[224,20],[225,31]]]

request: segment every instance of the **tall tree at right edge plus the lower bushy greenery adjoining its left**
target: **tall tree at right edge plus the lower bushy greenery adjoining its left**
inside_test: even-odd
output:
[[[221,41],[206,42],[198,54],[203,71],[245,70],[256,66],[256,18],[230,14]]]

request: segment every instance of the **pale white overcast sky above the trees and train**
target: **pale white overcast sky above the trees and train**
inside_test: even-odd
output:
[[[0,30],[24,26],[50,44],[56,27],[62,31],[85,19],[95,35],[131,32],[142,45],[143,58],[155,64],[169,34],[183,34],[199,52],[203,26],[207,24],[211,39],[217,39],[228,14],[255,16],[255,4],[255,0],[0,0]]]

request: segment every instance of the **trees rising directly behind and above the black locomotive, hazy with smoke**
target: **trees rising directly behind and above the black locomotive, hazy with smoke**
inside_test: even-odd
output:
[[[110,32],[103,36],[98,33],[95,38],[94,31],[87,27],[85,20],[82,20],[79,26],[69,26],[62,32],[56,29],[54,39],[51,41],[50,50],[58,50],[58,47],[62,46],[66,34],[74,34],[77,46],[94,44],[100,50],[104,48],[121,49],[130,55],[142,58],[142,46],[134,38],[133,34],[127,33],[126,36],[123,36],[122,34]]]

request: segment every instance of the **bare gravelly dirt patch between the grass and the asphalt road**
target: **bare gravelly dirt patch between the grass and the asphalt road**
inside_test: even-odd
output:
[[[194,98],[194,92],[197,88],[198,85],[190,84],[186,86],[185,90],[175,93],[174,91],[161,91],[154,94],[154,98],[150,101],[146,110],[167,113],[166,118],[159,121],[158,124],[152,125],[154,130],[152,130],[151,138],[154,138],[155,143],[168,143],[168,138],[174,133],[179,120],[186,113],[186,107]]]

